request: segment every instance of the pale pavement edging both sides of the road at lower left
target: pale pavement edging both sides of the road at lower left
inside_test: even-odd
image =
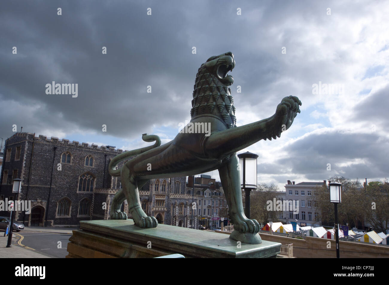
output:
[[[25,232],[42,232],[42,233],[61,233],[72,234],[72,231],[78,229],[75,227],[25,227],[19,233]],[[33,249],[21,244],[18,241],[20,236],[14,232],[12,234],[12,247],[6,247],[8,236],[4,236],[4,231],[0,231],[0,258],[50,258],[46,255],[39,254]]]

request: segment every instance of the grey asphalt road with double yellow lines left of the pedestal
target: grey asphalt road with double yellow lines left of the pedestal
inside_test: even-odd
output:
[[[65,258],[65,256],[68,255],[66,247],[69,238],[72,236],[72,234],[29,231],[20,231],[19,233],[14,232],[13,234],[14,236],[19,236],[18,241],[14,242],[16,246],[25,246],[40,254],[53,258]]]

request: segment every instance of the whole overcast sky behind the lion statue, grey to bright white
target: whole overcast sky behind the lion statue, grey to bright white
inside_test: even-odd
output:
[[[258,183],[284,190],[287,180],[334,175],[382,180],[389,170],[388,14],[388,2],[371,0],[3,0],[0,137],[12,136],[16,124],[36,136],[123,150],[147,145],[142,133],[166,143],[190,120],[197,69],[231,51],[237,126],[270,117],[285,96],[303,103],[281,138],[242,150],[259,155]],[[46,94],[53,81],[77,83],[78,97]],[[319,82],[344,90],[317,94]]]

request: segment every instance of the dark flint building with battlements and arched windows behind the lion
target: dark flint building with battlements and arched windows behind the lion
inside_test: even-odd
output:
[[[16,133],[5,141],[0,199],[32,201],[30,214],[17,211],[15,215],[15,220],[26,226],[74,227],[81,220],[109,219],[121,182],[120,177],[109,175],[108,166],[122,152],[111,146]],[[22,180],[19,194],[12,193],[14,178]],[[163,224],[191,226],[192,195],[187,191],[186,177],[152,179],[139,190],[147,215]],[[126,201],[122,210],[128,213]],[[2,211],[0,215],[10,213]],[[197,227],[197,211],[193,211],[193,221]]]

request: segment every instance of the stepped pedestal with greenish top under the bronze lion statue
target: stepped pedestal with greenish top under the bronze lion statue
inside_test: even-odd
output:
[[[80,222],[67,250],[70,257],[185,257],[246,258],[276,257],[280,243],[262,241],[250,245],[231,240],[229,235],[159,224],[141,229],[133,220],[91,220]]]

